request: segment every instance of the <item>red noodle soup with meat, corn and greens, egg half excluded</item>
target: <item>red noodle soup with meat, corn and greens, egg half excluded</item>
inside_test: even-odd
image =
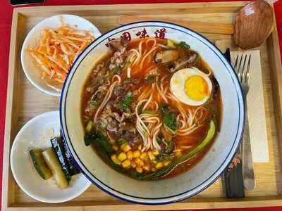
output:
[[[166,179],[188,171],[220,129],[221,93],[211,68],[185,42],[148,38],[108,45],[109,54],[97,63],[82,93],[85,144],[133,179]],[[171,78],[183,69],[212,82],[200,106],[183,103],[171,91]]]

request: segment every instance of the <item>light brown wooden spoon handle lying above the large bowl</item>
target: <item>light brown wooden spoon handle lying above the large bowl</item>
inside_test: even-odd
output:
[[[196,32],[213,33],[213,34],[233,34],[233,25],[227,23],[204,23],[200,21],[188,21],[188,20],[174,20],[173,18],[156,18],[153,16],[143,16],[143,15],[120,15],[119,23],[127,24],[137,21],[145,20],[161,20],[168,21],[171,23],[176,23],[178,25],[183,25],[189,27]]]

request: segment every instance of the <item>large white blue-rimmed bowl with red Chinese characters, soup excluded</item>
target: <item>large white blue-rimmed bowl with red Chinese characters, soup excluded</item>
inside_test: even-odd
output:
[[[146,33],[145,33],[146,32]],[[194,167],[168,179],[137,181],[106,165],[83,141],[81,99],[87,76],[106,55],[111,39],[142,39],[142,35],[185,41],[207,62],[221,87],[221,129],[209,151]],[[144,37],[143,36],[143,37]],[[106,32],[77,58],[63,86],[60,105],[61,127],[68,148],[80,170],[92,183],[122,200],[160,205],[190,198],[210,186],[231,162],[239,146],[245,121],[240,83],[231,65],[209,40],[197,32],[158,21],[131,23]]]

